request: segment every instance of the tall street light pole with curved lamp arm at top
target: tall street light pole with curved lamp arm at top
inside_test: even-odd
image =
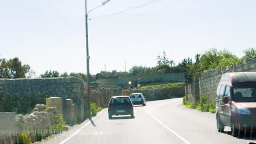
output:
[[[110,2],[110,0],[104,1],[101,5],[98,7],[101,7],[105,5],[106,3]],[[90,69],[89,69],[89,45],[88,45],[88,14],[98,8],[95,7],[87,13],[87,0],[85,0],[85,37],[86,37],[86,63],[87,63],[87,96],[88,96],[88,113],[89,113],[89,118],[91,118],[91,89],[90,89]]]

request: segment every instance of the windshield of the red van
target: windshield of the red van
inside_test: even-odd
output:
[[[256,102],[256,86],[233,87],[235,102]]]

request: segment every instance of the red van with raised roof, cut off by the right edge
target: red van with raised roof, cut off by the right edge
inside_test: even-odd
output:
[[[216,95],[217,129],[231,127],[231,134],[256,130],[256,72],[226,73]]]

